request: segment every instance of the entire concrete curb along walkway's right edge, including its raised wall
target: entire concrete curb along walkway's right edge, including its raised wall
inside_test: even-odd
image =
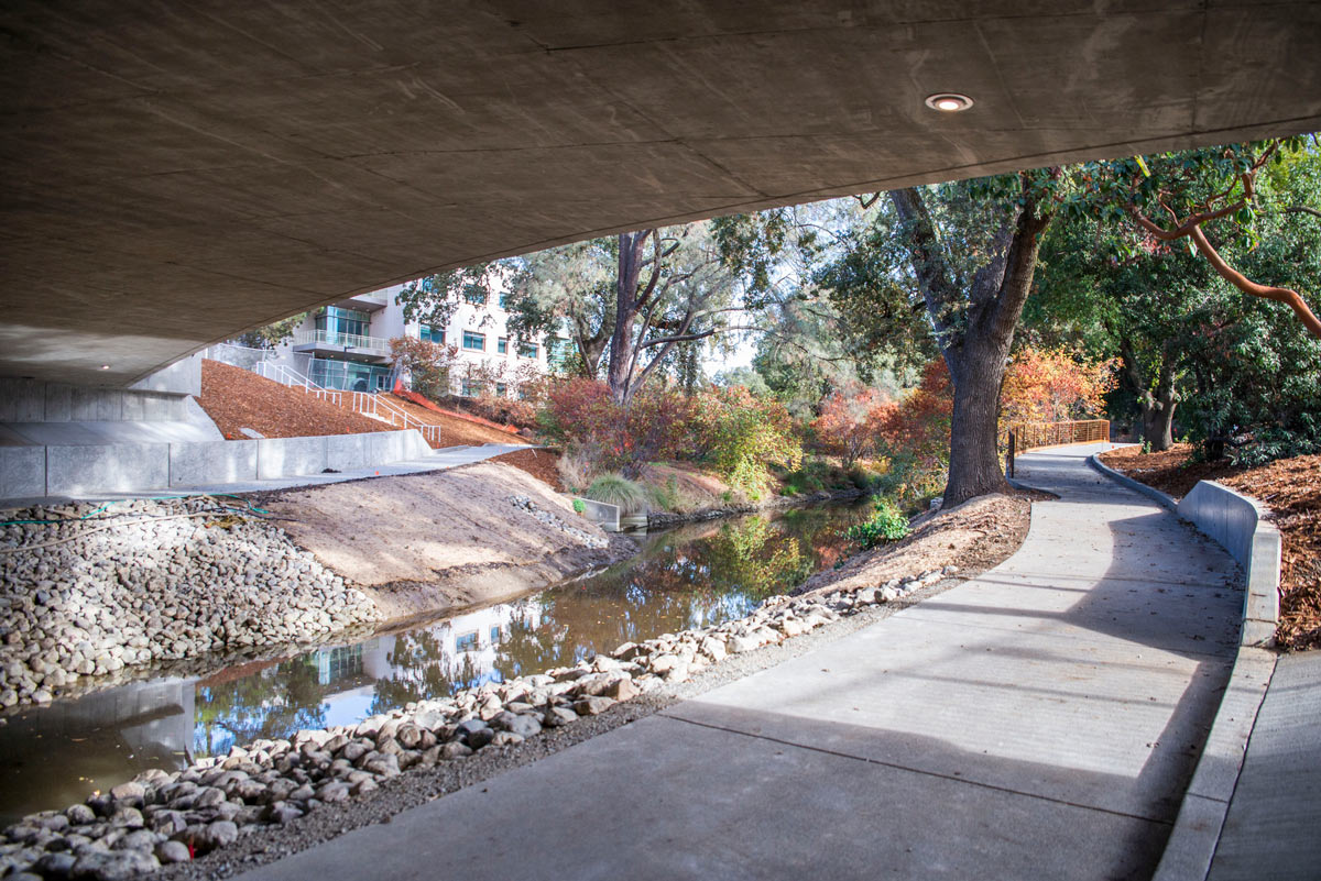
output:
[[[1215,711],[1202,754],[1189,781],[1169,840],[1152,881],[1205,881],[1229,815],[1234,789],[1256,715],[1275,673],[1275,638],[1280,595],[1280,533],[1266,522],[1255,499],[1213,480],[1198,481],[1182,501],[1087,458],[1096,471],[1136,489],[1178,514],[1225,547],[1247,575],[1243,625],[1229,684]]]

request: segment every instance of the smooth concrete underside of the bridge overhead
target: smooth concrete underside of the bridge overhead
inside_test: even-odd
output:
[[[590,235],[1321,128],[1318,3],[18,0],[0,28],[0,375],[79,382]]]

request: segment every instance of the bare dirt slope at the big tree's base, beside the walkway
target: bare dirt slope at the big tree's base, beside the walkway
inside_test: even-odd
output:
[[[1018,550],[1032,525],[1032,499],[1046,497],[1045,493],[979,496],[950,510],[922,514],[908,538],[863,551],[836,570],[818,572],[795,593],[855,591],[945,566],[958,566],[959,578],[974,578]]]

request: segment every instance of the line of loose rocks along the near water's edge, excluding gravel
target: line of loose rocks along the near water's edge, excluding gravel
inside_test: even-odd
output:
[[[546,728],[608,712],[621,700],[690,679],[729,654],[808,633],[954,574],[923,572],[856,592],[775,596],[725,624],[626,642],[572,667],[411,703],[357,725],[258,740],[181,772],[149,770],[63,811],[4,831],[0,877],[125,878],[192,859],[262,826],[296,822],[376,790],[411,769],[515,746]]]

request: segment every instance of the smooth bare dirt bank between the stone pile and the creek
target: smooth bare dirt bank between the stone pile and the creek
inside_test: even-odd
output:
[[[289,489],[262,506],[387,619],[509,599],[635,550],[544,483],[489,462]]]

